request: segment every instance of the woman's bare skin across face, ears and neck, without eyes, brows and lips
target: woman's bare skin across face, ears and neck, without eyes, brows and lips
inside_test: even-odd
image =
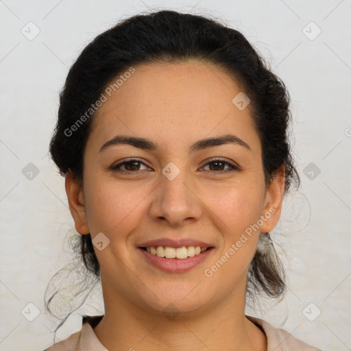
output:
[[[104,250],[94,247],[106,311],[95,334],[110,351],[267,350],[264,333],[245,318],[245,289],[259,233],[271,231],[280,217],[284,166],[266,186],[250,105],[234,106],[233,97],[243,89],[218,66],[189,61],[134,68],[94,117],[83,186],[66,173],[75,229],[92,238],[103,232],[110,240]],[[189,154],[195,141],[228,133],[251,150],[226,144]],[[150,138],[160,149],[114,145],[99,153],[116,134]],[[109,169],[134,157],[145,165],[122,166],[128,174]],[[226,164],[208,165],[214,157],[241,171],[223,173]],[[162,174],[169,162],[180,170],[173,180]],[[204,269],[272,207],[276,212],[261,228],[206,277]],[[160,237],[191,237],[215,250],[190,271],[170,274],[136,249]],[[162,313],[169,304],[179,312],[173,319]]]

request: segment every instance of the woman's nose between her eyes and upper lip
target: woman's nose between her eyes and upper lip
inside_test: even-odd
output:
[[[180,171],[173,180],[161,175],[149,215],[154,221],[167,221],[169,226],[178,227],[199,220],[202,208],[193,182],[186,177],[185,171]]]

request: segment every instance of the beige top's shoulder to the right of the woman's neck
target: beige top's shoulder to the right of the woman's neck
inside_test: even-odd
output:
[[[267,351],[322,351],[300,339],[296,339],[286,330],[274,328],[262,319],[246,316],[252,323],[261,326],[267,337]]]

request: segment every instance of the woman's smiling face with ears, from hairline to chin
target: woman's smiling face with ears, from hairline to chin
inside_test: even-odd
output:
[[[244,304],[258,236],[279,219],[284,175],[266,188],[250,104],[243,108],[241,88],[219,67],[134,69],[94,117],[84,189],[66,176],[75,228],[91,234],[105,298],[158,313],[169,304],[184,313],[228,299]],[[240,141],[203,141],[225,135]],[[116,136],[148,142],[106,145]],[[193,255],[189,246],[212,249],[162,258],[145,246],[173,247],[167,256],[179,257]]]

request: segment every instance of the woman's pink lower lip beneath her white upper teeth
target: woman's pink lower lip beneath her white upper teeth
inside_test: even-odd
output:
[[[211,254],[213,249],[214,247],[211,247],[210,249],[202,252],[201,254],[179,259],[158,257],[157,255],[150,254],[149,252],[138,247],[138,251],[140,251],[141,254],[145,256],[149,263],[152,263],[152,265],[164,271],[168,271],[169,273],[182,273],[184,271],[189,271],[190,269],[204,262],[206,258],[208,258],[208,255]]]

